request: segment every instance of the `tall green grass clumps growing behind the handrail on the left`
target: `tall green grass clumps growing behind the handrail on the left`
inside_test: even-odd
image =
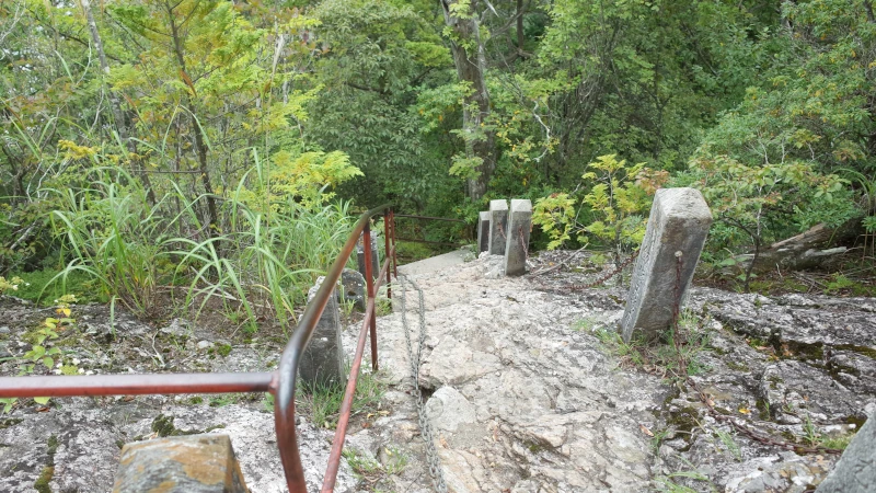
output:
[[[55,280],[85,273],[141,314],[169,298],[199,314],[218,299],[242,310],[249,330],[266,316],[295,323],[293,308],[336,256],[355,218],[348,203],[304,206],[285,197],[253,206],[251,190],[267,190],[263,171],[256,159],[223,200],[220,231],[205,227],[203,196],[189,199],[173,186],[150,205],[140,182],[119,168],[93,169],[80,190],[51,190],[61,204],[53,229],[66,262]],[[164,296],[180,289],[185,296]]]

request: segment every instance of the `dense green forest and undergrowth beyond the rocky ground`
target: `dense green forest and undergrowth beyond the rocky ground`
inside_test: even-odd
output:
[[[629,252],[659,186],[713,265],[872,256],[875,77],[864,0],[2,0],[0,290],[283,320],[353,209],[525,197],[539,246]]]

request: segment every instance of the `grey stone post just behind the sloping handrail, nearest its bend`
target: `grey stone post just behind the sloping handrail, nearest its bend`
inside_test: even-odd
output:
[[[316,290],[325,280],[324,276],[308,291],[308,302],[316,296]],[[310,344],[301,355],[298,372],[306,385],[326,387],[344,386],[347,382],[344,372],[344,346],[341,343],[341,311],[337,305],[337,287],[335,287],[325,310],[316,322]]]

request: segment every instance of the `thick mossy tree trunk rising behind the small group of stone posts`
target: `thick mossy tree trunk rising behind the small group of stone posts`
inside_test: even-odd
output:
[[[465,152],[470,158],[480,158],[475,171],[477,176],[466,183],[472,200],[480,200],[496,169],[496,134],[487,128],[489,117],[489,93],[486,89],[486,55],[481,42],[477,22],[477,0],[472,0],[466,13],[451,12],[459,0],[441,0],[445,23],[450,27],[450,51],[457,66],[460,81],[469,82],[472,92],[464,99],[462,127],[465,133]]]

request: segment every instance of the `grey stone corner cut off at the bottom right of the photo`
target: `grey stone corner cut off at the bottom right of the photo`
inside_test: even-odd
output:
[[[871,414],[816,493],[866,493],[876,486],[876,415]]]

